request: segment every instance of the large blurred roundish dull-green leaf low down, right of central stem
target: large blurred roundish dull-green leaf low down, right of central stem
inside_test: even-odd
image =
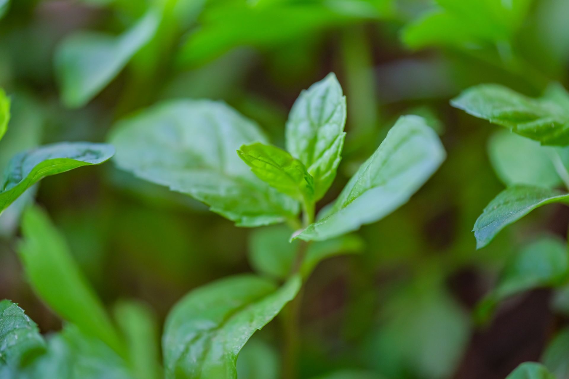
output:
[[[369,362],[388,378],[452,376],[469,337],[468,315],[442,288],[418,282],[383,305]]]

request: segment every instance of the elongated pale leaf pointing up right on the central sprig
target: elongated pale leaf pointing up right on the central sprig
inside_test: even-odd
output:
[[[445,155],[438,136],[423,118],[402,116],[333,206],[294,238],[325,240],[384,218],[409,201]]]

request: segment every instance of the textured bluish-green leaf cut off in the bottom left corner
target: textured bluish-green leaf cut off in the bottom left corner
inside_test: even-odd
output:
[[[18,305],[0,301],[0,367],[25,366],[45,350],[35,322]]]

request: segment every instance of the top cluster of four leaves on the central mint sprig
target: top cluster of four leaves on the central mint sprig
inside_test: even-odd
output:
[[[292,107],[288,152],[269,145],[251,120],[211,101],[154,106],[119,122],[110,141],[120,168],[191,195],[238,226],[298,224],[302,203],[305,228],[294,238],[326,240],[397,209],[445,157],[422,118],[403,116],[313,222],[314,204],[332,184],[341,160],[345,117],[345,98],[330,74],[303,91]]]

